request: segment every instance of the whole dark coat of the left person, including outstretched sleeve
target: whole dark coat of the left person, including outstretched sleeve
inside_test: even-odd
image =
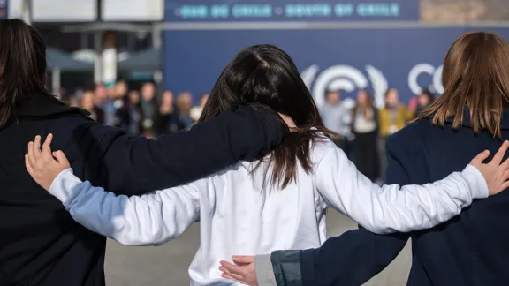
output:
[[[268,153],[288,132],[269,109],[240,107],[159,139],[131,139],[87,111],[38,95],[0,129],[0,285],[102,286],[106,238],[73,222],[28,175],[35,135],[54,134],[74,174],[110,192],[139,195]]]

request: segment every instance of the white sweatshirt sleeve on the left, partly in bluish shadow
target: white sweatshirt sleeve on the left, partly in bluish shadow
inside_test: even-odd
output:
[[[116,196],[82,182],[72,169],[65,169],[49,193],[64,204],[76,222],[123,245],[162,245],[179,237],[200,215],[193,184],[142,196]]]

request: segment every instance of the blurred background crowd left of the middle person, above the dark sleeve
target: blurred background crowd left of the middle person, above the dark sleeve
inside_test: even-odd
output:
[[[198,105],[188,92],[173,94],[166,90],[157,96],[153,83],[131,89],[123,80],[113,87],[102,84],[79,89],[63,96],[73,107],[87,109],[90,117],[100,124],[120,127],[131,136],[156,137],[191,127],[198,122],[209,94],[201,94]]]

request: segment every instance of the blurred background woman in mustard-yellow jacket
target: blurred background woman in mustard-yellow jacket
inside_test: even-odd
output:
[[[380,177],[384,179],[386,159],[385,159],[385,142],[387,137],[394,132],[399,131],[406,126],[414,114],[399,102],[399,93],[396,88],[389,88],[385,92],[385,107],[378,113],[380,124],[380,139],[378,154],[380,154]]]

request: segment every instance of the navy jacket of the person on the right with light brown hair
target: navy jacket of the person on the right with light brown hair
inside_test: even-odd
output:
[[[509,139],[509,111],[501,121]],[[465,168],[485,149],[495,154],[502,141],[488,132],[475,134],[468,111],[460,130],[429,119],[406,126],[387,141],[386,184],[426,184]],[[304,286],[361,285],[398,256],[412,237],[409,286],[509,285],[509,192],[475,201],[470,207],[430,230],[376,235],[350,230],[328,239],[321,248],[300,252]]]

